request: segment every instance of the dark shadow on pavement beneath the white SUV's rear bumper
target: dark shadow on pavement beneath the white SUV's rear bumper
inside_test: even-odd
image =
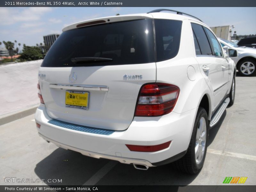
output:
[[[53,144],[51,144],[53,145]],[[47,185],[83,185],[109,160],[95,159],[80,153],[58,148],[44,158],[34,169],[40,179],[62,179],[61,183]],[[137,170],[132,165],[117,163],[97,185],[188,185],[197,175],[188,175],[172,169],[171,164]],[[177,186],[178,190],[178,186]],[[172,191],[177,191],[172,188]]]

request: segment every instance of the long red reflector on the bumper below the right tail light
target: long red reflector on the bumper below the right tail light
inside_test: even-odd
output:
[[[161,151],[163,149],[166,149],[170,146],[171,141],[168,141],[166,143],[162,143],[159,145],[127,145],[126,147],[128,147],[130,149],[130,151],[138,151],[138,152],[156,152],[156,151]]]

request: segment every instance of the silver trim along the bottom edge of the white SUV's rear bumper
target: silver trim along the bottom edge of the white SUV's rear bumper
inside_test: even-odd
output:
[[[155,167],[154,165],[152,165],[147,160],[132,159],[132,158],[112,156],[112,155],[105,155],[105,154],[95,153],[95,152],[91,152],[91,151],[86,151],[86,150],[83,150],[83,149],[71,147],[71,146],[65,145],[63,143],[59,143],[57,141],[51,140],[51,139],[45,137],[44,135],[42,135],[39,132],[38,132],[38,134],[44,140],[54,143],[57,147],[61,147],[61,148],[64,148],[64,149],[70,149],[72,151],[79,152],[79,153],[81,153],[82,155],[85,155],[85,156],[94,157],[94,158],[97,158],[97,159],[104,158],[104,159],[115,160],[115,161],[119,161],[120,163],[124,163],[124,164],[143,164],[143,165],[146,165],[148,167]]]

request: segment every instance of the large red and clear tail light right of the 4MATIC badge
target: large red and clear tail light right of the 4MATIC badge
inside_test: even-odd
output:
[[[145,84],[142,86],[135,116],[162,116],[174,108],[180,93],[179,87],[166,83]]]

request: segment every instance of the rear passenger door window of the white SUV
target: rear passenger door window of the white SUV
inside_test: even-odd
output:
[[[195,33],[194,35],[196,36],[202,55],[212,55],[211,46],[204,32],[203,26],[196,23],[191,23],[191,26]]]

